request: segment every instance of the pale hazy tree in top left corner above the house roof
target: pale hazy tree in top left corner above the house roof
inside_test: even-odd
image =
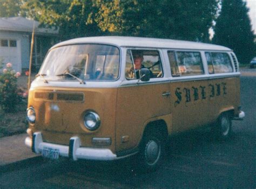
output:
[[[18,16],[21,4],[19,0],[0,0],[0,17]]]

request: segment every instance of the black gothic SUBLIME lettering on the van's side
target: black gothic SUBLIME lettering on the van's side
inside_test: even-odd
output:
[[[208,95],[207,95],[208,94]],[[221,95],[227,94],[227,83],[214,83],[209,84],[208,86],[199,86],[199,87],[184,87],[183,90],[180,87],[177,87],[175,90],[176,101],[174,102],[174,107],[177,107],[178,104],[184,99],[185,103],[191,101],[197,101],[199,99],[205,100],[207,97],[213,98]],[[183,98],[184,96],[184,98]],[[192,99],[191,99],[192,96]]]

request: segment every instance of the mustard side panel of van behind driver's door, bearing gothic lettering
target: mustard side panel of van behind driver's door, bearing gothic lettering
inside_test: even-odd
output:
[[[172,131],[207,125],[224,111],[238,113],[239,77],[171,82]]]

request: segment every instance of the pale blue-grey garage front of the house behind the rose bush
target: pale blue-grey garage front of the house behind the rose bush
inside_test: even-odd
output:
[[[1,31],[0,39],[17,41],[16,47],[0,46],[0,58],[4,59],[3,63],[11,62],[16,72],[21,72],[22,68],[28,68],[29,35],[21,32]]]

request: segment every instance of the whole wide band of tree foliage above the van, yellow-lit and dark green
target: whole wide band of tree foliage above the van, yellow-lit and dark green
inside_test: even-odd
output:
[[[216,0],[25,0],[23,11],[63,39],[123,35],[208,40]]]

